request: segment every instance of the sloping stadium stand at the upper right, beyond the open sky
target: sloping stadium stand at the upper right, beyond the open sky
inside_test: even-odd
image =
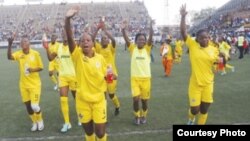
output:
[[[244,26],[249,30],[250,0],[231,0],[218,8],[210,17],[192,26],[190,32],[208,28],[212,34],[234,32]]]

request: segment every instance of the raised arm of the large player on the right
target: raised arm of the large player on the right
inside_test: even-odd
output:
[[[181,24],[180,24],[180,29],[181,29],[181,35],[184,41],[187,40],[187,29],[186,29],[186,4],[181,6],[180,9],[180,14],[181,14]]]

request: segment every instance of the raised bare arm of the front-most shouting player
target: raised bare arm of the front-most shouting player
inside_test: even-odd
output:
[[[70,19],[75,16],[76,13],[80,10],[79,6],[75,6],[70,8],[65,17],[65,31],[68,39],[68,44],[69,44],[69,51],[72,53],[76,47],[75,40],[73,38],[73,33],[71,29],[71,24],[70,24]]]

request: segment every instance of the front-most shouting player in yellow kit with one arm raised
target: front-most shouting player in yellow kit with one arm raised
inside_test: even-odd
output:
[[[79,7],[69,9],[65,18],[65,31],[77,78],[76,108],[85,130],[86,141],[106,141],[107,63],[102,55],[93,51],[94,39],[90,34],[83,33],[80,47],[76,47],[70,20],[78,11]]]

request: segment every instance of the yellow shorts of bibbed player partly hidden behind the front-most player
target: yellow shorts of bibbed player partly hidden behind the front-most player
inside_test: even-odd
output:
[[[60,87],[69,86],[70,90],[76,90],[76,77],[75,76],[60,76],[58,77],[58,85]]]

